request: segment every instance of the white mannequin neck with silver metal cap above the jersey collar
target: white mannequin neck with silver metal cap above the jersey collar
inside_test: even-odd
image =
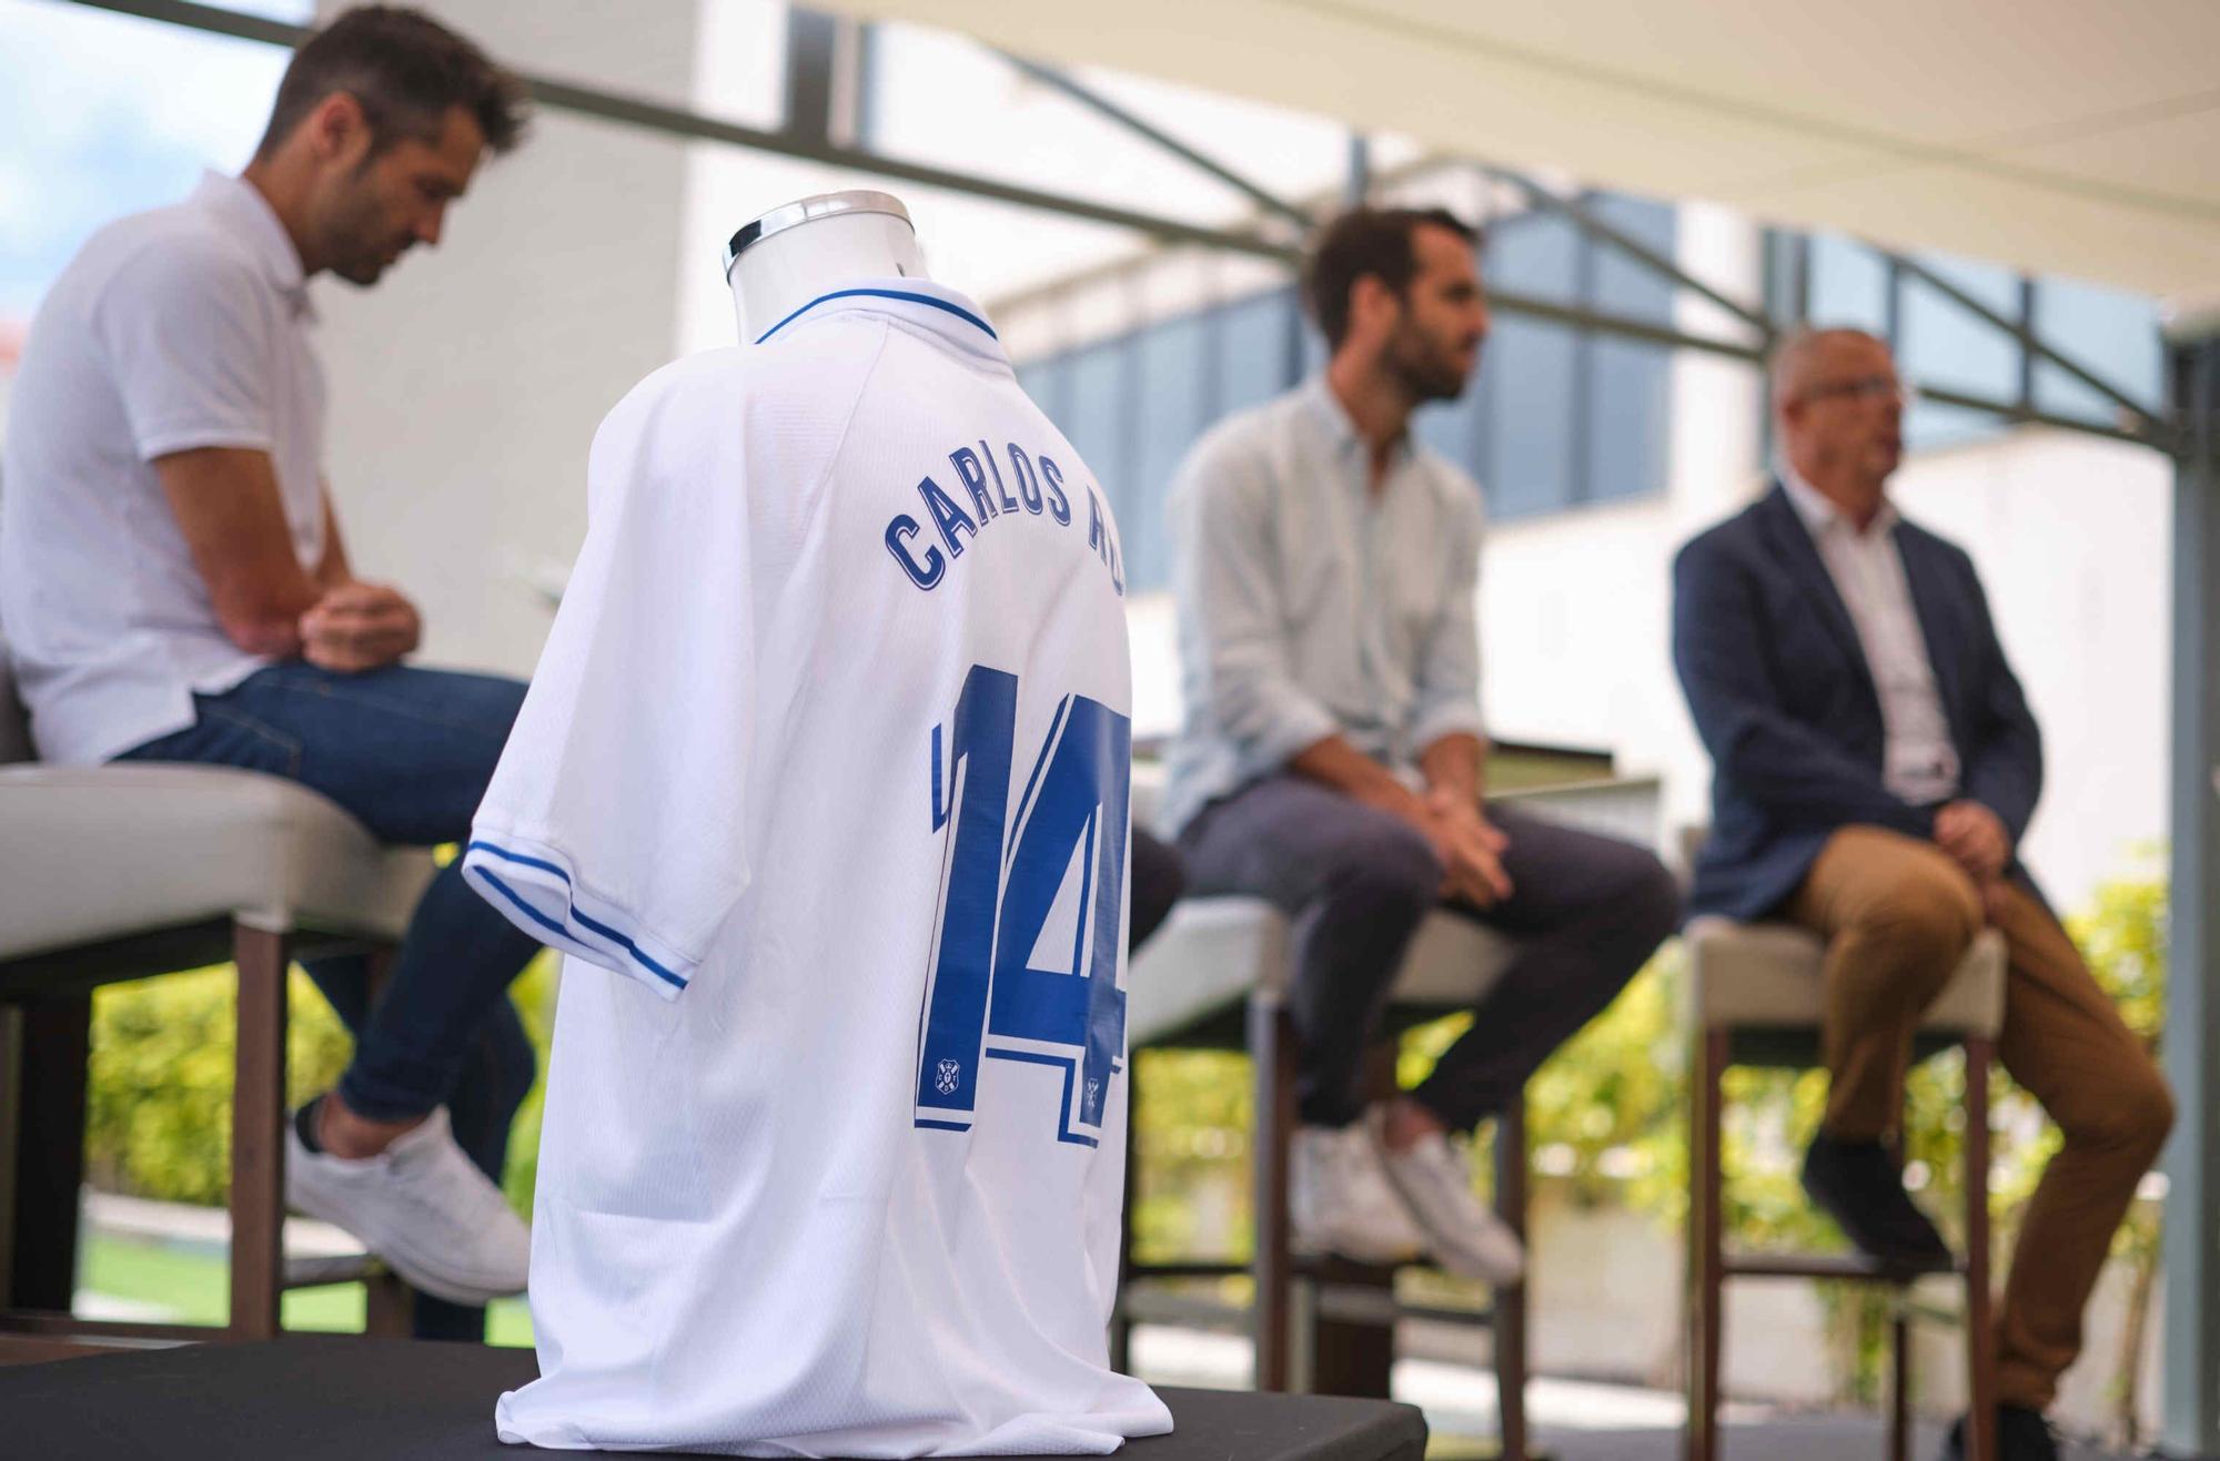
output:
[[[924,280],[910,213],[890,193],[817,193],[764,213],[724,249],[739,337],[755,344],[790,313],[866,280]]]

